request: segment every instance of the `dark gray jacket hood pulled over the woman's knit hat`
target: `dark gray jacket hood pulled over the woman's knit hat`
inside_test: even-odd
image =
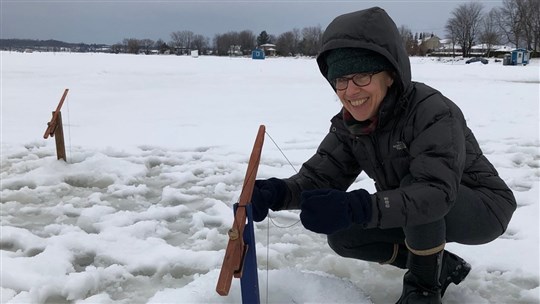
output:
[[[411,88],[409,56],[394,21],[380,7],[336,17],[326,28],[317,64],[326,78],[326,55],[338,48],[362,48],[377,52],[394,66],[402,94]]]

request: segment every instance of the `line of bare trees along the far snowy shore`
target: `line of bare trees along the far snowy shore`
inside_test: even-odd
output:
[[[459,49],[464,57],[469,57],[476,44],[485,45],[488,50],[493,45],[511,44],[516,48],[532,51],[538,56],[540,51],[540,0],[503,0],[501,7],[488,12],[480,2],[458,5],[446,21],[445,37],[453,48]],[[399,28],[403,43],[409,55],[426,55],[433,51],[433,46],[426,43],[433,38],[433,33],[412,33],[402,25]],[[292,29],[279,35],[262,31],[256,35],[251,30],[229,31],[216,34],[212,41],[206,36],[189,30],[175,31],[170,40],[128,38],[111,46],[114,53],[188,54],[198,50],[199,54],[219,56],[249,55],[251,51],[264,44],[275,45],[278,56],[316,56],[323,35],[321,26]],[[435,37],[436,39],[437,37]],[[443,38],[443,37],[441,37]],[[11,39],[14,40],[14,39]],[[10,40],[10,41],[11,41]],[[22,40],[18,40],[21,43]],[[17,42],[17,40],[15,40]],[[438,41],[437,41],[438,43]],[[6,40],[2,39],[5,49]],[[95,50],[96,46],[78,46],[80,50]]]

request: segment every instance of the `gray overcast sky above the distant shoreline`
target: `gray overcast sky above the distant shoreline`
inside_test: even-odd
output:
[[[444,37],[457,0],[380,1],[181,1],[181,0],[0,0],[1,38],[65,42],[122,42],[124,38],[170,41],[190,30],[212,39],[228,31],[266,30],[276,35],[308,26],[323,29],[336,16],[371,6],[384,8],[398,26]],[[476,0],[485,11],[502,0]]]

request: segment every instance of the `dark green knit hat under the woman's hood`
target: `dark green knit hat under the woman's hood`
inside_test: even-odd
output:
[[[359,48],[334,49],[326,55],[328,73],[326,79],[334,79],[356,73],[394,70],[392,64],[381,54]]]

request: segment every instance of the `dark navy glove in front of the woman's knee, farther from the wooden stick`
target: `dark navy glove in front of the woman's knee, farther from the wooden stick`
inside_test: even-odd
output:
[[[307,229],[332,234],[371,220],[371,195],[364,189],[345,192],[317,189],[302,192],[300,219]]]

